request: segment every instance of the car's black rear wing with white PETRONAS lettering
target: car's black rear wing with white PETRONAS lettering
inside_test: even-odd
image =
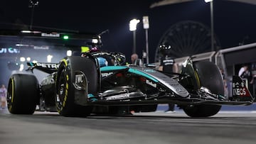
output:
[[[46,62],[27,62],[28,69],[26,71],[33,72],[34,69],[41,70],[42,72],[46,72],[51,74],[53,72],[57,72],[59,64],[58,63],[46,63]]]

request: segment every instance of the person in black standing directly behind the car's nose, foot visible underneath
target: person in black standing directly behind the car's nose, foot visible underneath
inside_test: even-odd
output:
[[[178,72],[178,65],[176,64],[174,57],[171,57],[171,45],[162,44],[159,45],[159,52],[161,53],[161,62],[159,65],[159,71],[173,76],[172,72]],[[169,104],[169,109],[166,110],[167,113],[174,113],[175,104]]]

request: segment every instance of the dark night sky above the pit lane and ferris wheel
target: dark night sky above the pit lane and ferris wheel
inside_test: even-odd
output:
[[[161,35],[180,21],[197,21],[210,28],[210,4],[203,0],[181,4],[149,6],[157,0],[129,1],[60,1],[38,0],[34,9],[33,26],[101,33],[104,50],[132,54],[133,35],[129,31],[132,18],[149,16],[149,62],[154,62],[154,53]],[[221,48],[230,48],[256,42],[256,6],[225,0],[214,1],[214,31]],[[31,23],[31,8],[28,0],[1,0],[0,23]],[[6,25],[4,25],[6,26]],[[6,28],[6,27],[4,27]],[[137,53],[145,50],[145,31],[142,22],[137,26]],[[129,56],[127,56],[129,57]]]

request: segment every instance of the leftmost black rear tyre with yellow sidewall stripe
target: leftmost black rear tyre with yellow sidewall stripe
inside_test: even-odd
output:
[[[33,114],[39,101],[38,79],[33,74],[13,74],[9,79],[7,106],[13,114]]]

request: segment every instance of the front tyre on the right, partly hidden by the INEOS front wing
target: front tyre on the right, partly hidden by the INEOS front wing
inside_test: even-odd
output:
[[[201,87],[207,87],[213,94],[224,95],[223,79],[220,70],[213,62],[195,62],[194,70]],[[183,111],[191,117],[208,117],[215,115],[220,109],[220,105],[192,105],[186,106]]]

